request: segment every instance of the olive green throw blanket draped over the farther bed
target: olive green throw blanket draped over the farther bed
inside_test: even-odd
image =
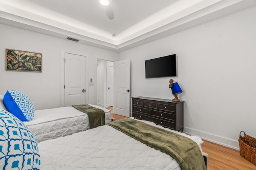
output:
[[[89,117],[90,129],[105,125],[105,112],[88,104],[73,105],[72,107],[86,113]]]

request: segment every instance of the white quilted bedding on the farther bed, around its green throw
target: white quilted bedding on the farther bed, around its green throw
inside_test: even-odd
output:
[[[105,123],[110,121],[109,111],[105,113]],[[36,110],[34,119],[24,123],[38,143],[90,129],[88,115],[71,106]]]

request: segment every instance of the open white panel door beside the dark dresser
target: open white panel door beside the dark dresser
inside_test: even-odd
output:
[[[130,117],[130,59],[114,62],[113,112]]]

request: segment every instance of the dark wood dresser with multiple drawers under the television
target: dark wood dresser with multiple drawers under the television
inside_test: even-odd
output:
[[[175,131],[183,131],[183,103],[168,99],[132,97],[132,116],[153,121]]]

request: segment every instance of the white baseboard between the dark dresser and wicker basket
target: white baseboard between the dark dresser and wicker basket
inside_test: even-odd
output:
[[[209,133],[205,133],[202,131],[198,131],[195,129],[190,129],[188,127],[184,127],[184,133],[188,134],[188,135],[196,135],[202,139],[205,139],[206,141],[210,141],[213,143],[217,143],[219,145],[223,145],[225,147],[229,147],[232,149],[236,149],[239,150],[239,144],[238,144],[238,140],[234,141],[232,139],[227,139],[224,137],[220,137],[220,136],[216,136],[216,135],[212,135]]]

